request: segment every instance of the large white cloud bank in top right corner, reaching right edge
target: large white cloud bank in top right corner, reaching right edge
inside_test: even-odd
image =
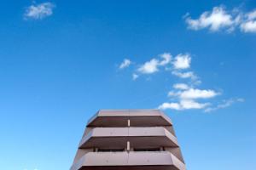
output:
[[[192,19],[190,14],[184,18],[188,28],[195,31],[209,29],[212,32],[231,32],[240,28],[242,32],[256,32],[256,10],[243,13],[238,8],[227,10],[222,5],[203,12],[197,19]]]

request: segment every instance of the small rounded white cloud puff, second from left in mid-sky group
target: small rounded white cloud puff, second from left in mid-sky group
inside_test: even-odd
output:
[[[146,62],[144,65],[141,65],[137,71],[143,74],[152,74],[158,71],[159,61],[157,59],[151,59],[150,61]]]

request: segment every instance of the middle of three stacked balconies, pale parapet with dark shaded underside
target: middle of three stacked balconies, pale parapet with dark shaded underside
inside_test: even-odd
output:
[[[177,147],[176,137],[165,127],[96,127],[84,136],[79,149],[85,148]]]

